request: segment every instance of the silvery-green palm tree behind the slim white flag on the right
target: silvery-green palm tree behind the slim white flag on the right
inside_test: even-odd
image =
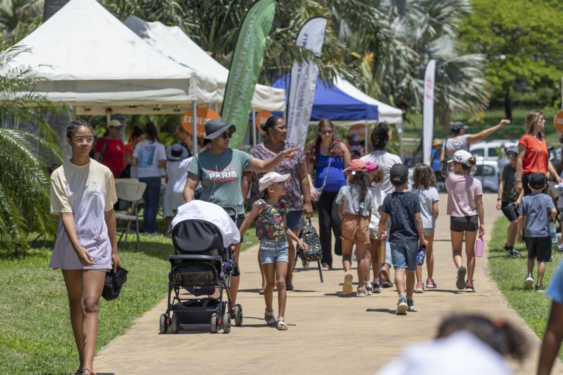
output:
[[[346,24],[341,35],[361,67],[364,90],[405,112],[422,110],[423,78],[428,60],[436,64],[436,111],[444,126],[457,112],[475,113],[488,105],[484,56],[460,55],[458,23],[471,12],[470,0],[382,0],[377,7],[390,35],[374,45],[369,31]],[[368,69],[370,67],[370,69]]]

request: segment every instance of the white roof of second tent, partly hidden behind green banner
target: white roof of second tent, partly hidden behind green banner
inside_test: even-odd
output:
[[[219,103],[223,101],[229,70],[209,56],[182,29],[178,26],[166,26],[161,22],[146,22],[137,16],[127,17],[124,23],[150,46],[178,64],[215,76],[218,85],[215,101]],[[257,84],[252,104],[258,111],[283,111],[285,90]]]

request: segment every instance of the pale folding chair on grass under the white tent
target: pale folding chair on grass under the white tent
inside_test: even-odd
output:
[[[138,182],[137,179],[132,178],[117,178],[115,179],[115,192],[120,200],[129,202],[131,207],[126,211],[115,211],[115,219],[124,220],[127,224],[124,227],[118,227],[117,230],[121,231],[118,243],[121,242],[123,234],[127,241],[128,233],[137,234],[137,250],[139,249],[139,220],[138,220],[138,201],[142,198],[146,189],[146,183]],[[135,231],[131,229],[131,222],[135,222]]]

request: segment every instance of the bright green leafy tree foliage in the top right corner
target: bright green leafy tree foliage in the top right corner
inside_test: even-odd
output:
[[[461,23],[469,53],[486,56],[491,104],[558,103],[563,76],[563,4],[545,0],[473,0]]]

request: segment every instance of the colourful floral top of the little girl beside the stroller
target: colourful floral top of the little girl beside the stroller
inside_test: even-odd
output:
[[[254,202],[254,205],[258,208],[258,218],[256,219],[258,239],[261,241],[287,241],[283,218],[288,211],[288,205],[279,201],[279,204],[274,206],[263,199]]]

